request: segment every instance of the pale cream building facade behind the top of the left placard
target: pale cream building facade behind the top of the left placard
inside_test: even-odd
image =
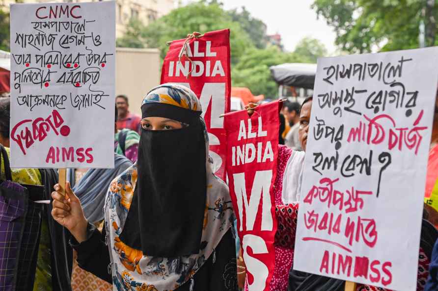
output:
[[[0,0],[1,9],[8,11],[11,3],[44,3],[44,2],[98,2],[99,0]],[[175,0],[116,0],[116,37],[126,31],[131,18],[138,18],[145,25],[166,15],[176,6]]]

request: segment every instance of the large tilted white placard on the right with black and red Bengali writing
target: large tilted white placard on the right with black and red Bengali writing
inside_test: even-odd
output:
[[[294,269],[415,290],[438,48],[318,60]]]

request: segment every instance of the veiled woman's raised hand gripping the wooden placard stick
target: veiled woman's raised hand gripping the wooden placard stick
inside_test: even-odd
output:
[[[56,184],[54,189],[52,217],[67,228],[78,242],[85,241],[88,222],[83,214],[81,201],[73,193],[69,182],[65,184],[65,196],[59,192],[61,190],[59,184]]]

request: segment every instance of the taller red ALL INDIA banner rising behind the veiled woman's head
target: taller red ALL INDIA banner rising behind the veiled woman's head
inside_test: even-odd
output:
[[[230,111],[230,30],[173,41],[161,72],[161,83],[168,82],[190,87],[199,98],[210,140],[213,170],[225,180],[226,137],[224,121],[219,116]]]

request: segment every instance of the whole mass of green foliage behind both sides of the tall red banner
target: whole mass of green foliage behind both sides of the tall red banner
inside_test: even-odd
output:
[[[253,94],[277,96],[277,84],[271,77],[270,66],[286,62],[315,62],[326,54],[317,40],[305,39],[295,53],[285,53],[276,47],[266,47],[266,25],[251,17],[242,8],[224,11],[217,0],[192,2],[145,26],[131,20],[118,46],[158,48],[164,58],[167,41],[182,39],[193,31],[207,32],[223,28],[231,31],[231,67],[233,86],[248,87]]]

